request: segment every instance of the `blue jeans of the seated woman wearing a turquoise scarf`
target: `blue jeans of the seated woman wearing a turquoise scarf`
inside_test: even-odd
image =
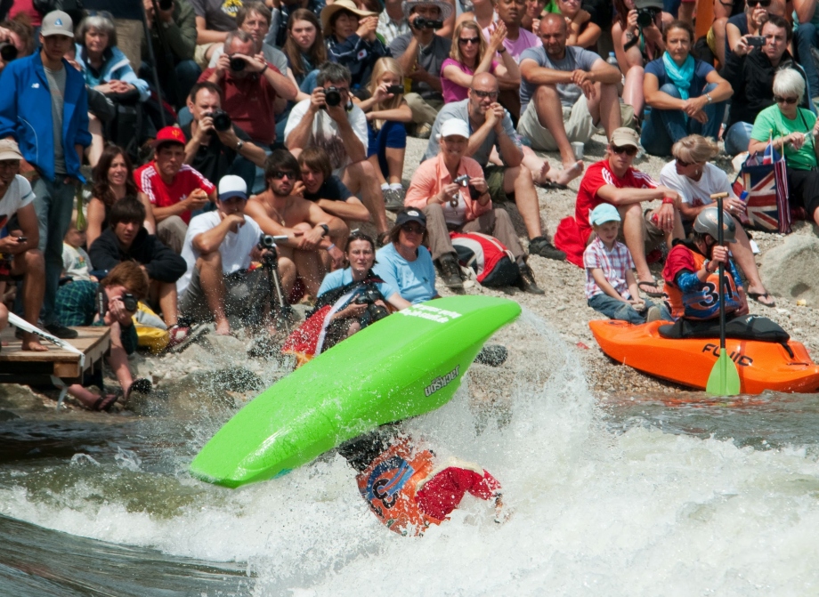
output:
[[[709,83],[702,90],[702,95],[714,91],[717,85]],[[662,93],[668,93],[671,97],[681,100],[676,85],[666,84],[660,88]],[[693,96],[699,97],[699,95]],[[649,117],[645,118],[643,124],[643,134],[640,142],[645,150],[653,156],[670,156],[671,146],[689,134],[701,134],[703,137],[713,137],[717,139],[719,126],[722,125],[722,117],[726,113],[726,102],[719,101],[711,103],[702,109],[708,120],[704,125],[693,118],[685,116],[685,112],[678,109],[651,109]]]

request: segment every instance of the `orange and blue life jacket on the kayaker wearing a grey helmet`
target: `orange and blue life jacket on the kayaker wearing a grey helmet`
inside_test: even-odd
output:
[[[676,248],[676,247],[675,247]],[[687,248],[687,247],[686,247]],[[694,272],[702,269],[705,262],[705,255],[697,251],[691,251],[694,265]],[[740,308],[739,293],[734,284],[734,276],[726,268],[723,278],[725,280],[726,313],[731,313]],[[710,273],[700,287],[693,293],[683,294],[677,287],[676,281],[666,280],[665,292],[671,316],[674,319],[685,317],[686,319],[713,319],[719,316],[719,270]]]

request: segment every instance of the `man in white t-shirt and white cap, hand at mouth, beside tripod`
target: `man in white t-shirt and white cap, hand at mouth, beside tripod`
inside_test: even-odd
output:
[[[191,220],[182,245],[188,270],[176,282],[179,311],[194,321],[213,319],[215,333],[230,335],[229,315],[244,323],[268,300],[262,268],[248,270],[266,251],[259,249],[262,230],[245,215],[247,183],[239,176],[219,181],[216,211]]]

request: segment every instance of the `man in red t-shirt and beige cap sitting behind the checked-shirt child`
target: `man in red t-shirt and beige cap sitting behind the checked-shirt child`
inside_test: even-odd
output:
[[[622,237],[637,270],[637,286],[645,294],[659,297],[662,293],[648,268],[646,253],[661,246],[663,241],[670,246],[673,238],[683,238],[685,233],[677,211],[677,191],[658,184],[648,174],[632,167],[638,148],[637,133],[630,128],[621,127],[614,131],[605,159],[590,165],[580,182],[574,222],[577,240],[580,246],[586,246],[594,238],[594,230],[588,223],[589,212],[601,203],[617,207],[623,222]],[[653,199],[662,199],[661,206],[645,209],[643,203]],[[572,223],[567,220],[558,226],[558,239],[561,230]],[[561,243],[558,245],[564,247]],[[571,250],[570,246],[565,248]]]

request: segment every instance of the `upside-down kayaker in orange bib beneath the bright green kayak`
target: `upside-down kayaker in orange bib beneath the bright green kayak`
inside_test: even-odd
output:
[[[441,524],[466,492],[495,503],[503,522],[500,483],[477,464],[456,458],[436,462],[434,453],[385,425],[338,448],[358,475],[361,497],[387,528],[401,535],[423,535]]]

